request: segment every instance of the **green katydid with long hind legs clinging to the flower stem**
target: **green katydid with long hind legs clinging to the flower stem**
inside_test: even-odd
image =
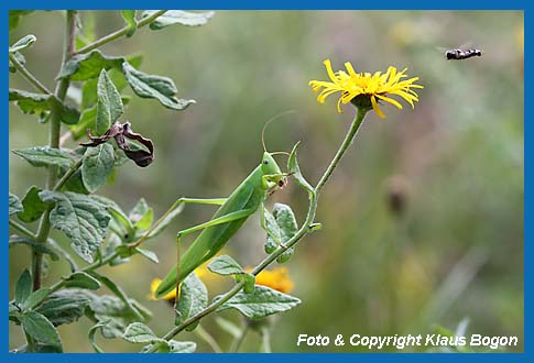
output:
[[[284,114],[287,112],[284,112]],[[270,120],[273,121],[273,120]],[[270,123],[266,122],[265,127]],[[265,128],[263,128],[264,132]],[[263,141],[262,132],[262,141]],[[265,150],[265,144],[263,143]],[[266,196],[279,188],[282,188],[288,176],[282,173],[280,166],[273,158],[275,154],[287,154],[285,152],[263,153],[261,164],[258,165],[249,176],[231,193],[228,198],[220,199],[194,199],[179,198],[174,202],[171,209],[160,219],[162,221],[173,211],[178,210],[184,204],[207,204],[219,205],[219,209],[211,219],[205,223],[182,230],[176,235],[178,261],[177,264],[167,273],[163,282],[155,292],[155,297],[160,298],[177,287],[195,268],[211,258],[219,252],[230,240],[233,234],[241,228],[244,221],[253,215],[260,207],[263,212],[263,201]],[[160,222],[159,221],[159,222]],[[156,222],[152,229],[156,228]],[[263,226],[262,220],[262,227]],[[201,231],[193,241],[182,257],[179,257],[181,238],[189,233]],[[145,233],[138,242],[131,244],[131,248],[139,245],[145,237],[150,235],[151,230]],[[178,276],[178,277],[177,277]]]

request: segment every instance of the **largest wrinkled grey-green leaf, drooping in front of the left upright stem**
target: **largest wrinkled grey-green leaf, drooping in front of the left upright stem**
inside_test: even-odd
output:
[[[106,207],[89,196],[72,191],[43,190],[39,196],[46,202],[55,202],[50,213],[52,226],[69,237],[73,250],[91,263],[92,253],[108,233],[110,217]]]

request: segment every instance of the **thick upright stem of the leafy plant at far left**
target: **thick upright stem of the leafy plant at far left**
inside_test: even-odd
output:
[[[74,54],[75,50],[75,37],[76,37],[76,11],[68,10],[65,23],[65,44],[63,48],[63,64],[65,64]],[[55,96],[61,100],[65,100],[68,86],[70,81],[68,78],[62,78],[56,86]],[[48,133],[48,145],[54,148],[59,148],[59,134],[62,129],[61,114],[57,110],[52,111],[50,133]],[[46,188],[52,189],[57,182],[57,167],[48,167],[48,175],[46,178]],[[50,223],[50,212],[48,208],[41,217],[39,223],[39,230],[35,241],[37,243],[45,243],[48,239],[51,223]],[[33,252],[32,257],[32,276],[33,276],[33,290],[41,288],[41,273],[42,273],[43,255],[39,252]]]

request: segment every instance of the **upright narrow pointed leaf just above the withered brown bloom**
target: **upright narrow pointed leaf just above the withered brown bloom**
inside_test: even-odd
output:
[[[98,77],[97,134],[103,134],[123,112],[124,108],[122,106],[120,94],[117,88],[115,88],[111,79],[109,79],[106,70],[102,69]]]

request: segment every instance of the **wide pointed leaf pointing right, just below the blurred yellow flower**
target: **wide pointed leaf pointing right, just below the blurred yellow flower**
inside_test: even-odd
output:
[[[221,296],[214,299],[218,300]],[[222,304],[217,311],[237,309],[249,319],[261,319],[266,316],[287,311],[301,304],[296,297],[280,293],[266,286],[257,285],[252,294],[240,292]]]

